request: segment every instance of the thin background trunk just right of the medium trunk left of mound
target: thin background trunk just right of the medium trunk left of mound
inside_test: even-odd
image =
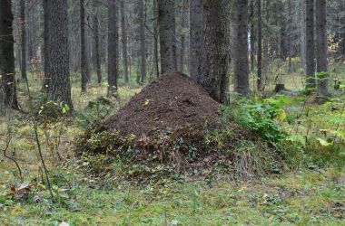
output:
[[[123,73],[124,73],[124,83],[128,84],[128,52],[127,52],[127,28],[126,28],[126,18],[124,9],[124,0],[121,0],[121,35],[123,41]]]

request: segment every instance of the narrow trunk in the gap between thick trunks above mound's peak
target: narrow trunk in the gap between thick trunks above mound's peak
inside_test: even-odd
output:
[[[182,34],[181,34],[181,52],[180,52],[180,71],[184,71],[185,64],[185,49],[186,49],[186,35],[188,29],[188,7],[189,0],[182,0]]]

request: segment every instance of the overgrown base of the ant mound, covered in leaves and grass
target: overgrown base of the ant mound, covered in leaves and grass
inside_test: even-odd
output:
[[[275,146],[235,124],[210,131],[187,126],[154,131],[140,139],[93,126],[77,140],[76,154],[84,161],[84,170],[107,185],[123,180],[138,184],[214,180],[217,175],[249,179],[282,168]]]

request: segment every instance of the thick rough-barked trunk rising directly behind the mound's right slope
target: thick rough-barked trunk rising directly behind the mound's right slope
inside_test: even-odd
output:
[[[229,86],[228,4],[228,0],[202,1],[205,57],[199,82],[220,103],[226,102]]]

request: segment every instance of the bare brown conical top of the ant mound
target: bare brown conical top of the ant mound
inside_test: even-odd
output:
[[[221,116],[219,107],[191,78],[179,72],[165,73],[135,95],[107,125],[122,135],[137,137],[186,125],[214,128]]]

